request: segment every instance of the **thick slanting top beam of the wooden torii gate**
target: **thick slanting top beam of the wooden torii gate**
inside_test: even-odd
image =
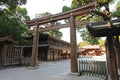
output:
[[[67,19],[71,15],[72,16],[78,16],[78,15],[82,15],[82,14],[88,14],[88,13],[91,12],[91,9],[95,8],[95,4],[96,4],[96,1],[94,1],[90,4],[87,4],[85,6],[82,6],[80,8],[70,10],[68,12],[58,13],[58,14],[55,14],[53,16],[43,17],[43,18],[40,18],[40,19],[33,19],[33,20],[28,21],[26,23],[27,23],[28,26],[35,26],[35,25],[45,24],[45,23],[48,23],[48,22]]]

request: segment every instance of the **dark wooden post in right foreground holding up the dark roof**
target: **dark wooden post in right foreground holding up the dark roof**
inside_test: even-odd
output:
[[[110,78],[111,80],[118,80],[116,54],[113,45],[113,36],[107,36],[107,60]]]

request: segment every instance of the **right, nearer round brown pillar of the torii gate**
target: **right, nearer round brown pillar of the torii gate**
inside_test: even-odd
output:
[[[71,15],[70,17],[70,50],[71,50],[71,72],[78,72],[77,64],[77,43],[76,43],[76,27],[75,27],[75,17]]]

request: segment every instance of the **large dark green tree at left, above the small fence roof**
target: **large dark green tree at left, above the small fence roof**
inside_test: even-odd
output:
[[[12,36],[19,44],[27,30],[24,21],[29,20],[25,8],[20,5],[26,0],[1,0],[0,1],[0,36]]]

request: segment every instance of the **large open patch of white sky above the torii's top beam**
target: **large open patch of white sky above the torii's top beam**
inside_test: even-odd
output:
[[[27,0],[27,4],[24,7],[27,8],[28,15],[32,19],[37,13],[60,13],[64,5],[71,5],[71,1],[72,0]]]

